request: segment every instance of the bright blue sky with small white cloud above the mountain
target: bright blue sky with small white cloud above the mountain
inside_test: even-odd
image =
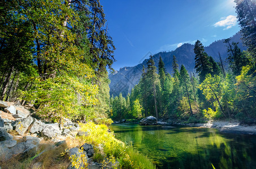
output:
[[[119,70],[199,39],[204,46],[240,28],[233,0],[102,0]]]

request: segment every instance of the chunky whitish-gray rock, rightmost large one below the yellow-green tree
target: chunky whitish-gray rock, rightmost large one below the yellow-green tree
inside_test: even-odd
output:
[[[59,129],[58,123],[44,124],[43,130],[41,133],[43,136],[49,137],[50,139],[57,135],[62,134],[62,132]]]

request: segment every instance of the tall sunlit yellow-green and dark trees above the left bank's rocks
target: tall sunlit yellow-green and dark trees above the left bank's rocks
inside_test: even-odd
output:
[[[106,118],[115,46],[99,1],[0,3],[0,100],[54,122]]]

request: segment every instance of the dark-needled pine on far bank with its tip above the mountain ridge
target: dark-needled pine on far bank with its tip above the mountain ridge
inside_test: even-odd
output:
[[[194,53],[196,54],[195,60],[195,69],[199,74],[200,82],[202,82],[206,75],[212,73],[212,64],[209,61],[209,56],[206,54],[202,43],[197,40],[194,45]]]

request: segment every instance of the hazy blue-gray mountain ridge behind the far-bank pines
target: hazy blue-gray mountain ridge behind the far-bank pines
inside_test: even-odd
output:
[[[240,47],[241,50],[246,50],[246,47],[242,46],[240,38],[241,35],[236,33],[233,35],[233,37],[231,37],[231,42],[239,42],[238,47]],[[215,41],[211,43],[211,45],[205,47],[205,52],[209,56],[212,56],[217,62],[219,62],[219,53],[223,61],[227,59],[227,47],[223,42],[224,39]],[[175,51],[159,52],[158,54],[153,55],[153,60],[157,66],[159,56],[161,56],[167,72],[171,74],[173,55],[176,56],[177,63],[179,65],[183,64],[188,72],[196,72],[194,69],[194,45],[190,45],[189,43],[185,43],[184,45],[176,48]],[[110,74],[110,96],[118,96],[120,92],[122,92],[123,96],[126,96],[128,92],[131,93],[132,88],[140,81],[143,65],[146,68],[146,63],[148,60],[149,59],[145,59],[141,64],[136,66],[120,68],[119,71],[115,71],[114,73]]]

